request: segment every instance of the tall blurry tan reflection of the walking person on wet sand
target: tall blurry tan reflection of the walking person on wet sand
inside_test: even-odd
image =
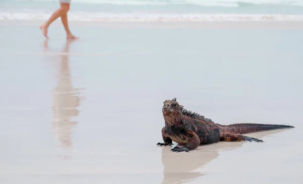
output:
[[[69,51],[69,45],[74,40],[67,40],[64,52]],[[45,45],[45,44],[44,44]],[[47,46],[47,44],[46,44]],[[79,90],[73,88],[69,68],[69,54],[61,54],[61,62],[58,71],[58,82],[54,90],[53,104],[53,130],[56,138],[60,141],[60,147],[65,154],[61,159],[70,159],[67,153],[72,147],[72,129],[77,125],[77,121],[72,118],[79,114],[77,107],[80,104]]]

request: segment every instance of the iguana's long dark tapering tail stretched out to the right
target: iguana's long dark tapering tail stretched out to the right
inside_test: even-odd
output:
[[[277,129],[289,129],[294,128],[290,125],[270,125],[270,124],[231,124],[220,125],[226,132],[233,134],[248,134],[255,132],[263,132]]]

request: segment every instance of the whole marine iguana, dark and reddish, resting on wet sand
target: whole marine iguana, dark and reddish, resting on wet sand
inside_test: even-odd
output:
[[[199,145],[217,143],[219,141],[256,141],[260,139],[244,136],[242,134],[270,131],[276,129],[294,128],[288,125],[270,124],[231,124],[220,125],[196,112],[184,109],[179,105],[176,98],[163,102],[163,117],[165,127],[162,128],[164,143],[160,146],[172,146],[173,142],[178,143],[171,151],[183,152],[196,149]],[[180,147],[180,145],[184,145]]]

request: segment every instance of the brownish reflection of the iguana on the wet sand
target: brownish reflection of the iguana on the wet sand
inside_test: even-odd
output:
[[[261,139],[264,136],[282,131],[285,131],[285,129],[255,133],[254,137]],[[239,148],[244,143],[244,141],[219,142],[212,145],[199,146],[197,150],[189,153],[176,153],[170,151],[171,146],[163,147],[161,161],[164,166],[164,178],[162,184],[185,183],[203,176],[207,172],[198,172],[195,170],[216,159],[219,156],[219,152]]]

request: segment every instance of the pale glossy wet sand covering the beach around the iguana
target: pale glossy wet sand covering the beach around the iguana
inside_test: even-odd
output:
[[[301,29],[77,23],[66,42],[0,25],[3,183],[301,183]],[[172,153],[156,144],[173,97],[220,124],[296,128]]]

